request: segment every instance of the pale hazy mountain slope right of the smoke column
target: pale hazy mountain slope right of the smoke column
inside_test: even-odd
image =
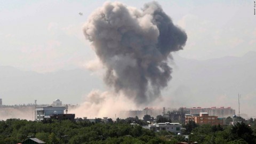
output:
[[[174,55],[173,79],[163,95],[171,105],[184,107],[228,107],[238,114],[256,115],[256,52],[243,57],[191,60]]]

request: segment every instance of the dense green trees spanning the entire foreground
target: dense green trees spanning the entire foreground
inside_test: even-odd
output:
[[[83,119],[78,122],[7,119],[0,121],[0,143],[22,142],[29,135],[34,135],[47,143],[177,143],[181,141],[216,144],[256,143],[255,119],[247,121],[244,119],[235,126],[199,126],[189,122],[184,125],[186,130],[183,132],[189,135],[189,140],[166,131],[153,132],[140,125],[132,126],[130,124],[132,122],[145,124],[145,121],[138,117],[118,118],[116,122],[108,119],[108,123],[102,123],[100,118],[95,118],[95,123]]]

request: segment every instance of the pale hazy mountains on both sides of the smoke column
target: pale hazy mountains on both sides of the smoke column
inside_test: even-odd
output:
[[[243,57],[192,60],[174,55],[172,80],[163,90],[161,106],[213,107],[231,106],[238,113],[256,115],[256,52]],[[3,104],[62,103],[76,104],[92,89],[105,89],[102,78],[88,70],[60,70],[53,73],[22,71],[0,66],[0,98]],[[150,105],[157,106],[154,102]]]

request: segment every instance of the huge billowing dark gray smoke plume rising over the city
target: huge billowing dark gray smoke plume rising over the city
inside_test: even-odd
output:
[[[183,49],[185,31],[173,25],[157,2],[141,10],[106,2],[85,23],[84,35],[106,67],[105,82],[137,104],[161,96],[171,79],[167,60]]]

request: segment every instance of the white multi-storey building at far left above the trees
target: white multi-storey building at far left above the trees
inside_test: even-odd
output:
[[[40,122],[44,118],[50,118],[53,114],[64,114],[65,107],[36,107],[35,121]]]

